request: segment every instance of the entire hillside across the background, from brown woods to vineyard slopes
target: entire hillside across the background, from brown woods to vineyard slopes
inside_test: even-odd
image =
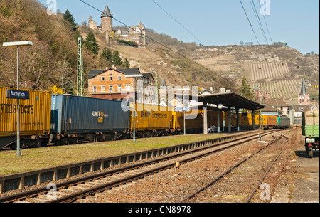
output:
[[[20,51],[21,88],[50,90],[54,85],[75,93],[77,38],[87,38],[88,27],[74,29],[63,14],[49,16],[36,0],[0,0],[0,42],[33,41]],[[114,27],[121,28],[121,27]],[[291,100],[297,97],[305,76],[309,84],[319,85],[319,55],[302,55],[287,46],[206,46],[184,43],[154,30],[148,30],[149,46],[137,48],[112,43],[109,48],[127,58],[131,68],[158,73],[159,83],[176,86],[230,88],[240,92],[247,78],[250,87],[269,90],[271,97]],[[92,69],[106,68],[100,53],[107,46],[105,36],[95,32],[99,54],[84,47],[85,75]],[[156,43],[155,41],[161,43]],[[16,86],[16,49],[0,46],[0,85]],[[319,98],[319,89],[308,90]]]

